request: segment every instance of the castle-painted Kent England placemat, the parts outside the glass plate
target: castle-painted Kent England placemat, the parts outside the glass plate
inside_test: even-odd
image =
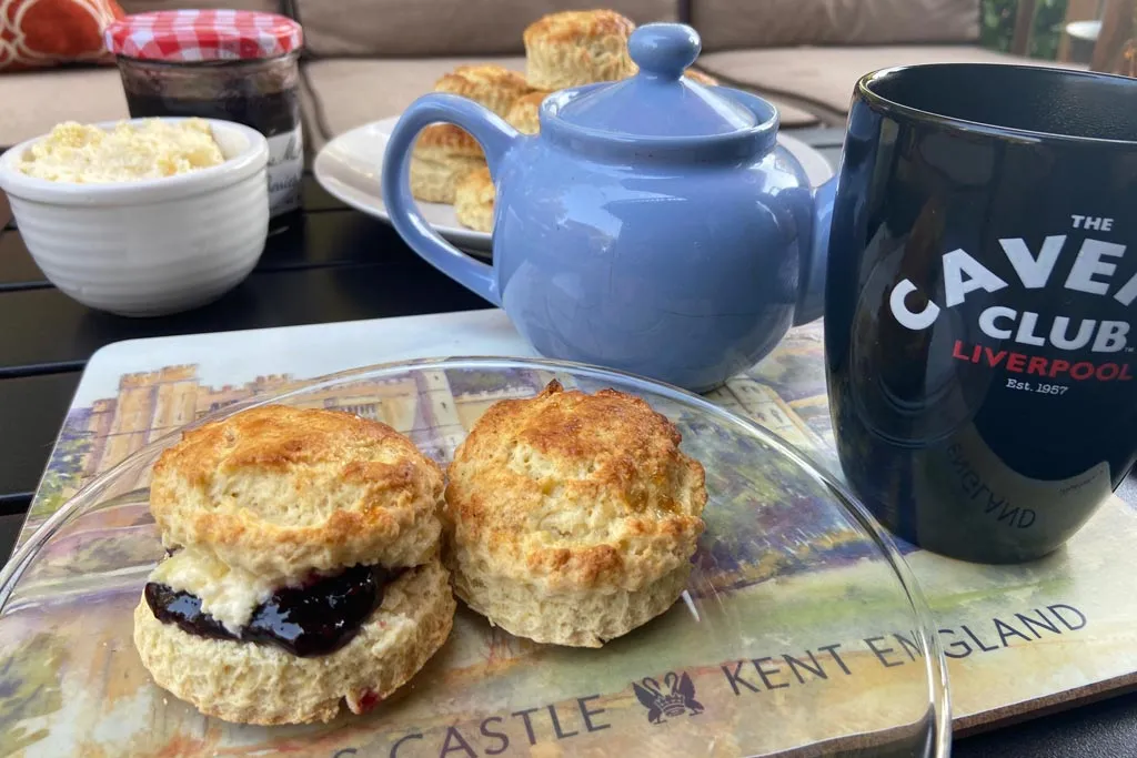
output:
[[[121,342],[100,350],[80,382],[20,540],[85,481],[147,442],[252,394],[324,374],[442,356],[532,356],[501,311],[483,310]],[[380,417],[391,386],[352,385],[324,407]],[[823,370],[821,324],[794,330],[773,355],[708,395],[755,418],[838,473]],[[492,391],[453,390],[430,402],[474,413]],[[388,403],[398,405],[398,403]],[[401,428],[410,432],[412,430]],[[781,535],[803,553],[816,534]],[[1137,684],[1137,597],[1130,557],[1137,506],[1113,498],[1063,550],[1021,566],[981,566],[902,544],[939,624],[957,731],[1021,718]],[[843,569],[825,569],[843,570]],[[873,639],[883,666],[902,666],[903,641]],[[731,680],[762,697],[764,677]]]

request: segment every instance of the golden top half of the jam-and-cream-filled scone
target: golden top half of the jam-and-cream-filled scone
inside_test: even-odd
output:
[[[442,473],[390,426],[263,406],[186,432],[153,467],[167,547],[294,578],[356,564],[416,566],[440,531]]]

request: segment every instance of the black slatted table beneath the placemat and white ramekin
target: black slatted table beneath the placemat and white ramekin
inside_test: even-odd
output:
[[[795,132],[833,165],[840,130]],[[467,310],[485,302],[420,260],[385,224],[305,177],[304,211],[274,223],[257,268],[219,301],[164,318],[100,314],[43,276],[0,193],[0,559],[7,559],[99,348],[147,336]],[[1137,619],[1135,619],[1137,622]],[[1137,757],[1137,694],[956,741],[974,758]]]

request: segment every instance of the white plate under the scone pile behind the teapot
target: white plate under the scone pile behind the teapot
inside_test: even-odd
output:
[[[373,122],[346,132],[326,145],[316,156],[313,172],[330,194],[347,205],[382,218],[390,223],[379,190],[379,177],[383,167],[383,152],[395,128],[398,116]],[[797,158],[805,169],[810,183],[816,186],[833,175],[833,169],[824,157],[805,144],[785,134],[778,142]],[[458,223],[454,206],[439,202],[420,202],[423,217],[453,244],[467,252],[489,255],[491,236],[474,232]]]

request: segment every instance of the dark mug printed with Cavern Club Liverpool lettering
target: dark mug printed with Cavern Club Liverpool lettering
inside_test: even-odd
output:
[[[1137,458],[1137,80],[1022,66],[857,84],[825,355],[841,466],[901,538],[1044,556]]]

